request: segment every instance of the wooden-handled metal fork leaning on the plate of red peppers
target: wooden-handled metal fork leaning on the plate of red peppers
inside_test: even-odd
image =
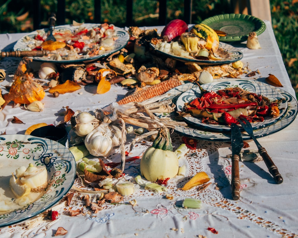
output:
[[[243,120],[245,123],[241,120]],[[239,120],[239,123],[241,124],[243,129],[249,134],[249,136],[252,137],[252,139],[254,140],[254,143],[256,143],[259,153],[262,156],[262,158],[263,158],[269,172],[273,176],[275,182],[277,184],[281,184],[283,182],[283,177],[278,172],[276,165],[274,165],[274,163],[273,163],[272,159],[270,158],[270,156],[268,155],[266,149],[260,145],[260,143],[257,141],[257,138],[254,136],[254,133],[252,130],[252,125],[245,118],[243,118],[241,120]]]

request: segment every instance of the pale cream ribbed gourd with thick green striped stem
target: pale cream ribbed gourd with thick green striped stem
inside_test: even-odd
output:
[[[172,151],[172,141],[169,130],[164,127],[159,130],[152,147],[142,155],[140,170],[148,181],[173,178],[179,170],[177,155]]]

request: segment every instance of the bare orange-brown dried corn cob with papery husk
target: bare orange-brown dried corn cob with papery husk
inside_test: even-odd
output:
[[[136,93],[128,95],[127,97],[119,100],[117,103],[127,104],[129,102],[142,102],[146,99],[162,95],[167,91],[169,91],[170,89],[181,85],[182,83],[183,82],[181,82],[179,79],[168,79],[159,84],[146,87],[143,90],[140,90],[140,91],[137,91]]]

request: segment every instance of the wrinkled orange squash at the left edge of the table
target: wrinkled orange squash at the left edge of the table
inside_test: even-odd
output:
[[[9,90],[10,93],[21,93],[13,99],[15,103],[30,104],[34,101],[41,101],[46,95],[40,84],[35,82],[29,74],[18,76]]]

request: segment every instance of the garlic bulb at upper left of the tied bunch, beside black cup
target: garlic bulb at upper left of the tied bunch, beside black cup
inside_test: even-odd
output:
[[[71,117],[72,129],[78,136],[86,136],[99,124],[99,120],[89,112],[76,111]]]

